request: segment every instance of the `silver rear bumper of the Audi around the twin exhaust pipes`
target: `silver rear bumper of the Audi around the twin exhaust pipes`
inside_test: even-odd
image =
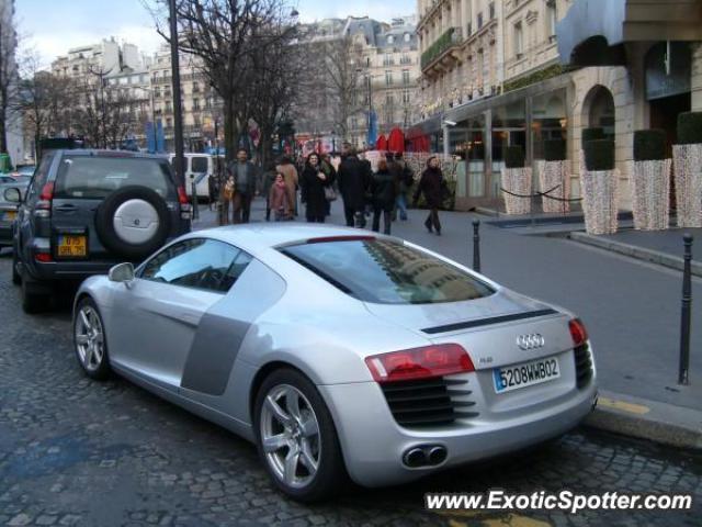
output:
[[[407,429],[397,425],[374,382],[319,386],[337,426],[349,475],[364,486],[403,483],[449,467],[487,459],[536,445],[576,427],[592,410],[597,386],[573,390],[557,404],[494,423],[445,429]],[[410,469],[403,455],[417,446],[446,449],[444,462]]]

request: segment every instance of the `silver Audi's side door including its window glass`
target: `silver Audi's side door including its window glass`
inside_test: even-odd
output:
[[[146,261],[128,288],[117,289],[113,362],[177,392],[200,322],[224,299],[239,254],[223,242],[190,238]]]

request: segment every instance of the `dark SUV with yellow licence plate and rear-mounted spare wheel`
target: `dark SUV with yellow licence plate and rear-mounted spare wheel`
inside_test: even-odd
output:
[[[20,201],[19,193],[11,194]],[[185,190],[163,157],[46,152],[13,227],[12,281],[22,284],[24,311],[42,310],[59,281],[140,261],[190,232],[191,217]]]

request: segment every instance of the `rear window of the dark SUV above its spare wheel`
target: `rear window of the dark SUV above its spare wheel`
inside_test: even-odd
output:
[[[55,197],[103,199],[117,189],[138,184],[166,200],[174,200],[169,170],[162,159],[67,156],[58,171]]]

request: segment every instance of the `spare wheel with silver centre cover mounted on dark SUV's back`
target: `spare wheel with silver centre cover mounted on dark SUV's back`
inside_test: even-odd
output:
[[[155,190],[124,187],[107,195],[98,208],[95,231],[107,250],[124,258],[141,259],[166,243],[171,214]]]

